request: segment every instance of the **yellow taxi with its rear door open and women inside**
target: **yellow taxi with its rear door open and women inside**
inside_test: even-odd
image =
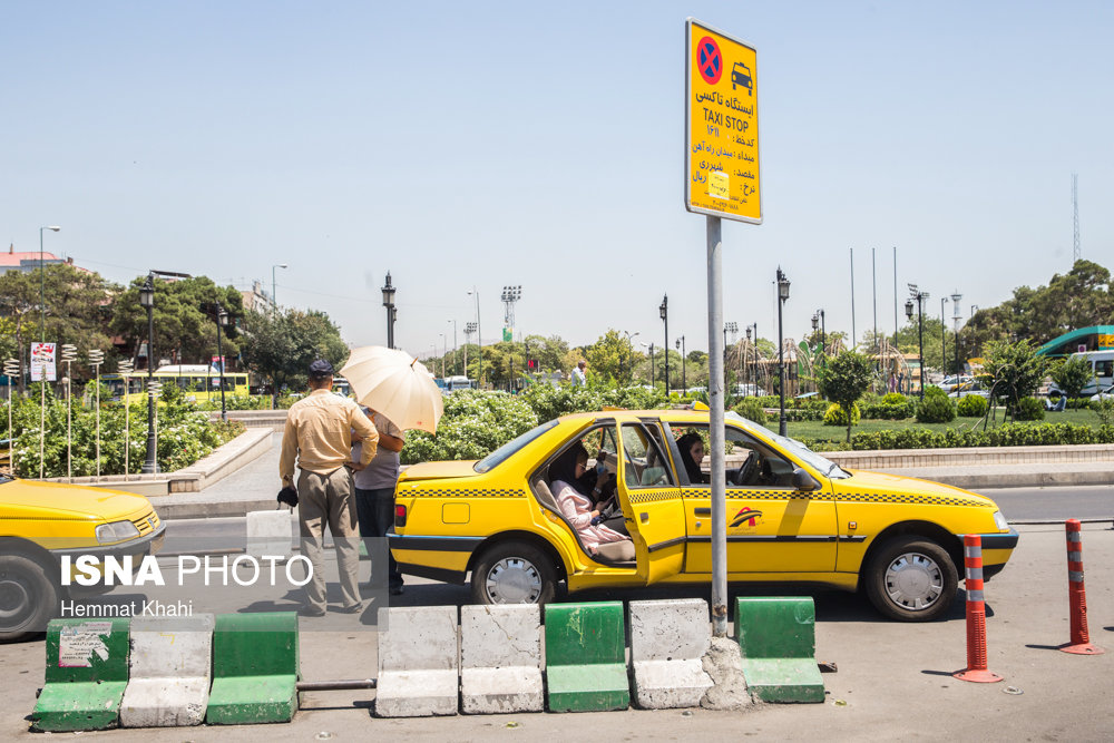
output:
[[[989,498],[842,469],[733,412],[725,428],[731,581],[861,589],[883,615],[924,622],[956,598],[964,535],[981,535],[985,578],[1017,544]],[[538,426],[479,461],[416,465],[395,489],[391,551],[411,575],[463,584],[470,574],[480,604],[545,603],[560,581],[570,593],[707,583],[710,460],[686,467],[678,447],[706,446],[707,433],[706,411],[606,410]],[[589,502],[612,491],[626,550],[597,547],[555,498],[550,468],[579,447],[597,480],[578,487]]]

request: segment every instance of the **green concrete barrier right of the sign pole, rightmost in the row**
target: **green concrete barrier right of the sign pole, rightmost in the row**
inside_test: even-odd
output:
[[[823,702],[812,598],[736,598],[743,676],[763,702]]]

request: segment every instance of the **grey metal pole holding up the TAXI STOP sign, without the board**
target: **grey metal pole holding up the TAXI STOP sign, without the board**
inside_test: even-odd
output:
[[[720,217],[707,224],[707,397],[712,449],[712,634],[727,636],[727,480],[723,424],[723,253]]]

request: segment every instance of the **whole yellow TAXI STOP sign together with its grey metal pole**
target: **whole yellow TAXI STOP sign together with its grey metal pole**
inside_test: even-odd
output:
[[[727,634],[724,460],[723,232],[721,218],[762,223],[759,185],[758,52],[685,21],[685,208],[707,225],[709,437],[712,472],[712,634]]]

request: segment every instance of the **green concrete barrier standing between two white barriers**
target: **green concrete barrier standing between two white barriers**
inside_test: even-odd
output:
[[[548,604],[546,678],[550,712],[626,710],[623,603]]]

